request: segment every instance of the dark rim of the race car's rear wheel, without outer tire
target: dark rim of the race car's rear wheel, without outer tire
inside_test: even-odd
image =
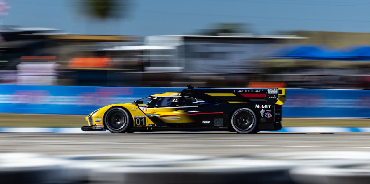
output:
[[[255,118],[249,111],[239,111],[235,114],[233,124],[240,131],[248,131],[255,124]]]

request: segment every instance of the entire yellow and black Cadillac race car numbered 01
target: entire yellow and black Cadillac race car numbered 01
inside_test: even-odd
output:
[[[102,107],[86,117],[83,131],[235,131],[282,128],[285,89],[196,88],[155,94]]]

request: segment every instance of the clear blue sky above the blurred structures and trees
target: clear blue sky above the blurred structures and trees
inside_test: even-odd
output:
[[[73,1],[73,0],[72,0]],[[367,0],[132,0],[129,16],[92,21],[79,15],[71,0],[8,0],[1,24],[50,27],[72,34],[192,34],[216,22],[242,22],[253,34],[314,30],[370,32]]]

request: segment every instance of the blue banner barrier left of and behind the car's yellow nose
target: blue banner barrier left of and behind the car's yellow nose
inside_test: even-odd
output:
[[[183,88],[0,85],[0,113],[81,114]]]

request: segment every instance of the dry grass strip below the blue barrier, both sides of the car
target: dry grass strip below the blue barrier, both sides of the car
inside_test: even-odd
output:
[[[370,127],[370,119],[283,118],[283,127]],[[1,114],[0,127],[75,128],[87,126],[85,115]]]

